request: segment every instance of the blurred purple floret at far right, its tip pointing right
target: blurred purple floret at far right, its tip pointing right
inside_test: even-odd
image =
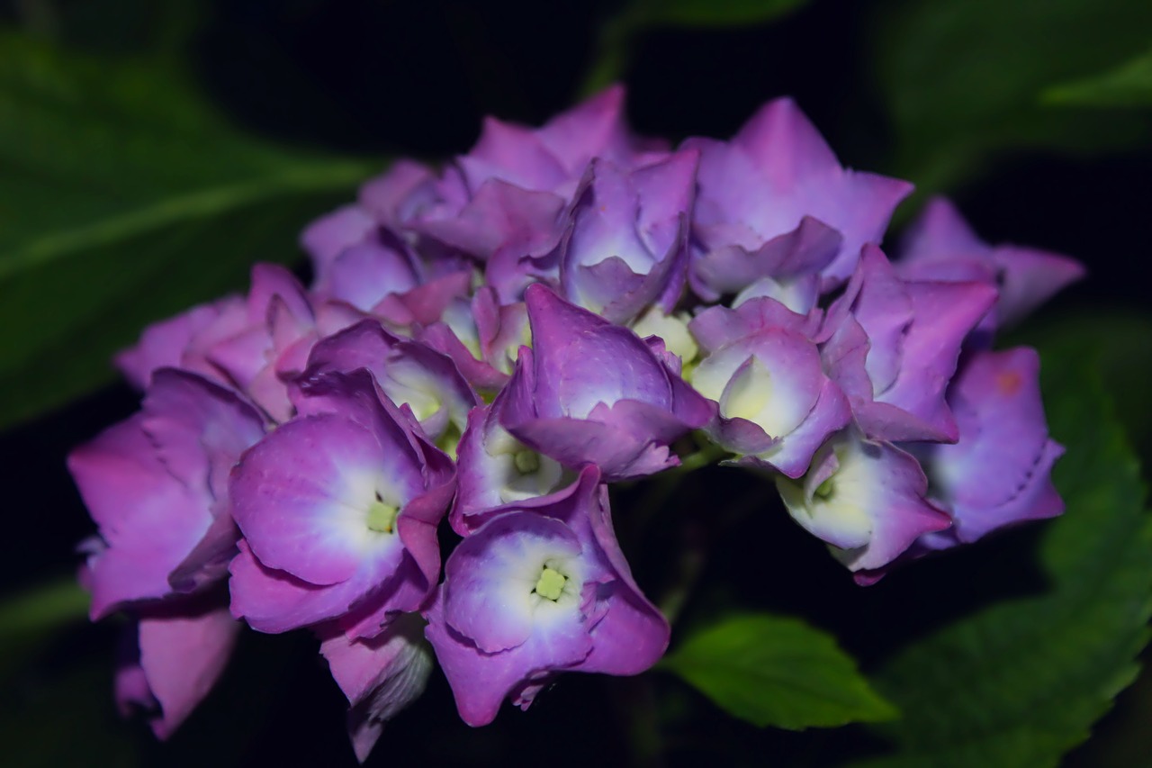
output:
[[[1084,277],[1076,259],[1033,248],[988,246],[955,206],[929,201],[901,241],[896,268],[908,279],[973,280],[998,286],[1000,298],[983,330],[1013,325],[1067,285]]]

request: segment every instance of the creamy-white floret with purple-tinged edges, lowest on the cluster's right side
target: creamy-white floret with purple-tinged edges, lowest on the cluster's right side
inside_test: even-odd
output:
[[[804,477],[778,477],[776,488],[793,519],[854,572],[881,569],[922,535],[952,525],[926,500],[927,477],[915,458],[852,430],[828,441]]]

